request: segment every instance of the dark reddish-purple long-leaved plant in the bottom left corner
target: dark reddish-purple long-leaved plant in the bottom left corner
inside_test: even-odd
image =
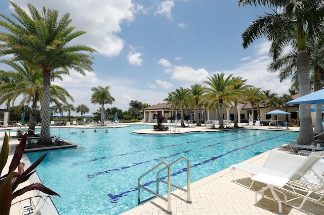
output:
[[[41,183],[33,183],[31,185],[27,185],[26,187],[18,188],[19,185],[27,181],[29,177],[33,173],[35,173],[34,169],[42,162],[47,154],[46,153],[38,158],[36,162],[33,163],[27,170],[24,170],[25,165],[24,163],[20,162],[20,159],[25,150],[26,140],[27,133],[24,134],[19,145],[16,147],[16,151],[11,160],[8,173],[3,174],[5,165],[8,162],[9,155],[9,138],[7,133],[5,132],[5,139],[0,153],[0,173],[2,175],[0,178],[0,214],[9,214],[12,200],[31,190],[39,190],[48,195],[60,196]],[[14,172],[17,168],[18,172]]]

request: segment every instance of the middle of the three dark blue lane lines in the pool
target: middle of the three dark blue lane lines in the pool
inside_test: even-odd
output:
[[[255,136],[255,135],[254,135]],[[245,139],[246,137],[241,137],[239,139]],[[206,140],[206,139],[205,139]],[[236,139],[238,140],[238,139]],[[191,141],[191,142],[195,142],[195,141]],[[189,143],[191,143],[189,142]],[[219,145],[219,144],[222,144],[222,143],[225,143],[225,141],[223,142],[218,142],[218,143],[215,143],[215,144],[212,144],[212,145],[207,145],[207,146],[203,146],[201,147],[202,148],[208,148],[208,147],[213,147],[215,145]],[[94,178],[96,176],[99,176],[99,175],[102,175],[102,174],[107,174],[107,173],[112,173],[112,172],[115,172],[115,171],[119,171],[119,170],[125,170],[125,169],[129,169],[131,167],[135,167],[137,165],[141,165],[141,164],[145,164],[145,163],[149,163],[149,162],[152,162],[152,161],[156,161],[158,162],[159,160],[164,160],[166,158],[169,158],[169,157],[174,157],[174,156],[177,156],[177,155],[181,155],[181,154],[186,154],[188,152],[191,152],[192,150],[186,150],[186,151],[182,151],[182,152],[178,152],[178,153],[175,153],[175,154],[171,154],[171,155],[168,155],[168,156],[163,156],[163,157],[158,157],[158,158],[154,158],[154,159],[151,159],[151,160],[146,160],[144,162],[140,162],[140,163],[133,163],[133,165],[131,166],[126,166],[126,167],[120,167],[120,168],[115,168],[115,169],[111,169],[111,170],[105,170],[105,171],[102,171],[102,172],[97,172],[97,173],[94,173],[94,174],[87,174],[87,177],[89,179],[91,178]]]

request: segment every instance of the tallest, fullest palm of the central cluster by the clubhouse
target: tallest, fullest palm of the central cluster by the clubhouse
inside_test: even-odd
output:
[[[219,128],[224,128],[223,105],[228,105],[236,98],[234,86],[238,83],[232,81],[233,74],[225,78],[225,73],[217,73],[208,77],[209,81],[204,81],[209,87],[206,89],[205,99],[209,101],[208,109],[215,104],[219,107]]]

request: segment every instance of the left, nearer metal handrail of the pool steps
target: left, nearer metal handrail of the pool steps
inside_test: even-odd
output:
[[[152,190],[144,187],[143,185],[141,185],[141,179],[144,176],[148,175],[149,173],[151,173],[152,171],[156,170],[157,168],[159,168],[162,165],[166,165],[166,168],[168,169],[168,198],[166,198],[164,196],[161,196],[160,194],[158,194],[158,193],[156,193],[156,192],[154,192],[154,191],[152,191]],[[140,188],[143,188],[144,190],[152,193],[153,195],[155,195],[155,196],[157,196],[157,197],[159,197],[159,198],[167,201],[168,202],[168,213],[172,213],[172,211],[171,211],[171,181],[170,181],[170,177],[171,177],[170,165],[167,162],[161,162],[158,165],[156,165],[155,167],[153,167],[152,169],[150,169],[149,171],[147,171],[146,173],[144,173],[143,175],[141,175],[138,178],[138,181],[137,181],[137,203],[138,203],[138,205],[141,203],[141,201],[140,201],[140,198],[141,198]]]

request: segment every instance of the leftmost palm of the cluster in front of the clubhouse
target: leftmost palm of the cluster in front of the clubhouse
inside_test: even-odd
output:
[[[190,96],[189,90],[180,87],[179,89],[176,89],[175,91],[169,93],[168,100],[168,103],[171,103],[172,109],[180,109],[181,127],[185,127],[183,111],[193,104],[193,100]]]

